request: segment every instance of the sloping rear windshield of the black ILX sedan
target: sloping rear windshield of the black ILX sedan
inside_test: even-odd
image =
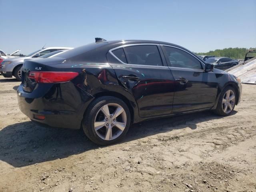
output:
[[[58,54],[56,56],[53,56],[53,57],[61,57],[61,58],[74,57],[74,56],[80,55],[82,53],[88,52],[90,50],[94,50],[96,48],[104,46],[104,45],[106,45],[106,43],[107,42],[97,42],[97,43],[87,44],[87,45],[84,45],[84,46],[80,46],[80,47],[65,51],[65,52],[60,53],[60,54]]]

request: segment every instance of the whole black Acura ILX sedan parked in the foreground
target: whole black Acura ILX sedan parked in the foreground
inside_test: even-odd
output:
[[[122,140],[130,124],[213,110],[227,116],[240,101],[240,79],[181,46],[159,41],[96,42],[27,60],[20,110],[41,125],[82,128],[93,142]]]

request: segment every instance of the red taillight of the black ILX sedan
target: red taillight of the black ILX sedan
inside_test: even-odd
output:
[[[61,83],[68,82],[78,76],[78,72],[56,72],[56,71],[31,71],[28,78],[37,83]]]

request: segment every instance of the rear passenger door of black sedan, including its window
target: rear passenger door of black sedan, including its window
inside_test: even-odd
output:
[[[107,58],[119,82],[134,96],[140,117],[172,112],[175,82],[158,44],[120,46]]]

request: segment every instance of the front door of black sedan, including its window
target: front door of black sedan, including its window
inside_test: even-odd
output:
[[[214,106],[218,83],[214,72],[205,72],[204,64],[190,52],[175,46],[161,46],[175,79],[172,113]]]

